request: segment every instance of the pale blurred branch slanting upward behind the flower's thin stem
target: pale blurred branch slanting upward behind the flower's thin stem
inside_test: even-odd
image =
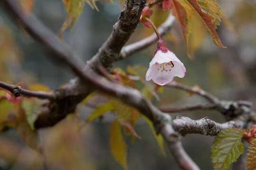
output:
[[[166,21],[161,26],[158,27],[158,32],[161,36],[166,34],[170,30],[170,28],[173,26],[174,20],[175,20],[175,17],[173,16],[172,13],[170,13]],[[121,50],[119,57],[121,59],[126,58],[127,56],[148,47],[149,45],[153,44],[156,41],[157,41],[157,36],[154,33],[138,42],[134,42],[132,44],[124,46]]]

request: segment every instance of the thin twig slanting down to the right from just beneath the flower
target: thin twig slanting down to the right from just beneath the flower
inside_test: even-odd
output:
[[[175,81],[168,83],[167,86],[181,89],[181,90],[184,90],[184,91],[187,91],[190,93],[195,93],[195,94],[201,95],[204,98],[206,98],[209,102],[214,103],[214,104],[219,104],[219,99],[217,97],[213,96],[210,93],[205,92],[204,90],[202,90],[200,88],[193,88],[193,87],[190,87],[187,85],[183,85],[181,83],[177,83]]]

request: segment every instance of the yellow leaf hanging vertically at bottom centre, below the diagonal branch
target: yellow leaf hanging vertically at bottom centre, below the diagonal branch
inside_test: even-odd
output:
[[[125,170],[127,167],[127,146],[122,135],[122,129],[115,120],[110,126],[110,149],[114,158],[122,165]]]

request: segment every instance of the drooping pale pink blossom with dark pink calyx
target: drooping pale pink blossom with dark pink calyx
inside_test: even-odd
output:
[[[146,80],[152,79],[157,85],[166,85],[174,79],[174,76],[183,78],[185,72],[186,68],[183,63],[160,38],[157,43],[157,50],[146,72]]]

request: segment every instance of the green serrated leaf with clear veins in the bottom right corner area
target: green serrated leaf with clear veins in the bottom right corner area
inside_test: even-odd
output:
[[[232,127],[221,130],[215,137],[211,148],[214,170],[227,170],[244,152],[241,139],[245,131]]]

